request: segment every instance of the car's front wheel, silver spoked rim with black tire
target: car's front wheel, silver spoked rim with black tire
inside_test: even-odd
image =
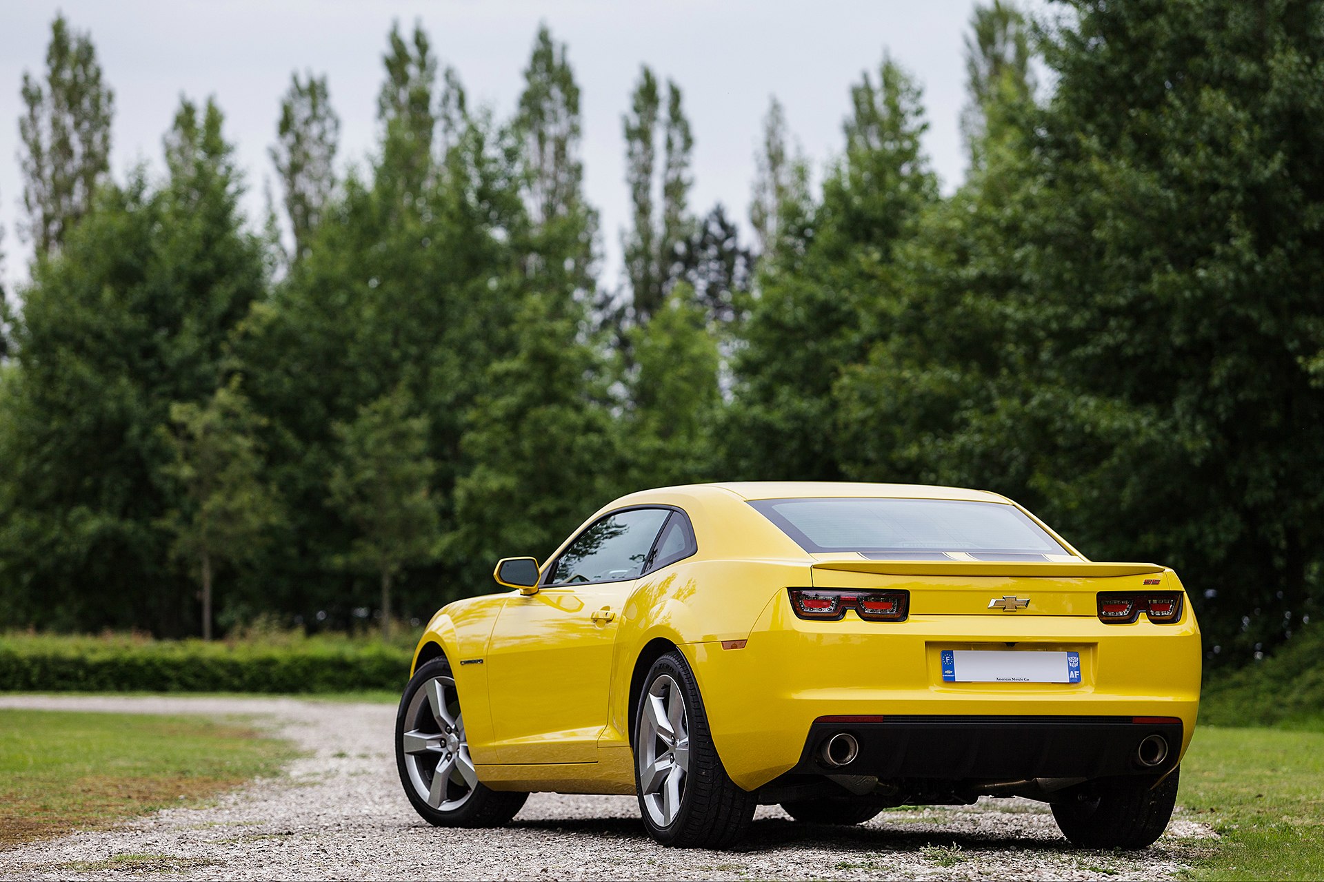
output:
[[[396,713],[396,766],[409,803],[436,826],[500,826],[528,799],[478,780],[445,659],[421,665],[405,686]]]

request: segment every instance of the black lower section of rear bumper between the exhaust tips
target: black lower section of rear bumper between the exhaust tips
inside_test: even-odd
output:
[[[858,750],[850,762],[834,766],[824,758],[824,746],[839,733],[850,735]],[[1162,739],[1165,755],[1147,764],[1139,746],[1151,735]],[[790,774],[951,782],[1162,775],[1177,764],[1181,743],[1182,723],[1174,718],[898,715],[859,722],[828,717],[810,726]]]

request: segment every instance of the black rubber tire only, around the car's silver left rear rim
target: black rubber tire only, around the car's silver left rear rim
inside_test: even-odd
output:
[[[688,729],[688,772],[681,793],[679,811],[673,820],[659,825],[645,803],[645,788],[641,778],[639,758],[643,756],[645,702],[651,689],[661,678],[670,677],[679,686],[685,701]],[[658,844],[673,848],[724,849],[740,840],[753,821],[757,799],[741,789],[727,775],[722,766],[712,737],[708,733],[708,717],[703,709],[699,686],[679,652],[669,652],[649,669],[639,690],[639,701],[634,709],[634,785],[639,800],[639,813],[643,826]]]

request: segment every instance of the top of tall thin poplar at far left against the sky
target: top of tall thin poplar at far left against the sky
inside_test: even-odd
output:
[[[20,230],[41,257],[64,243],[110,169],[114,93],[102,83],[91,38],[71,30],[64,15],[50,24],[45,82],[24,71],[23,102],[19,159],[28,222]]]

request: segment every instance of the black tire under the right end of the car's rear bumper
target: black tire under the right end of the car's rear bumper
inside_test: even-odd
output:
[[[1107,778],[1083,787],[1074,799],[1053,803],[1058,829],[1086,849],[1143,849],[1168,829],[1181,768],[1157,785],[1148,776]]]

